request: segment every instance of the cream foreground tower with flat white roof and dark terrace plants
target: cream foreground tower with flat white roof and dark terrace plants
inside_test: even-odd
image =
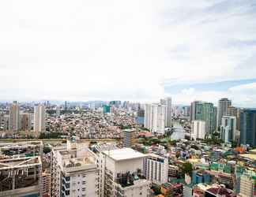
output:
[[[100,153],[100,197],[141,196],[150,194],[151,181],[142,173],[145,154],[131,148]]]

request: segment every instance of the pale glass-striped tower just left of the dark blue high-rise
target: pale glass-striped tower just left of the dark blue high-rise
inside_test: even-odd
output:
[[[236,117],[223,116],[220,125],[220,138],[224,143],[235,141],[236,134]]]

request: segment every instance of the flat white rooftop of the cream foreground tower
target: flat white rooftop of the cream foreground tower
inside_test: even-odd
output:
[[[132,148],[122,148],[111,151],[104,151],[104,154],[107,154],[110,158],[114,159],[115,161],[146,157],[145,154],[142,154],[138,151],[134,151],[134,149]]]

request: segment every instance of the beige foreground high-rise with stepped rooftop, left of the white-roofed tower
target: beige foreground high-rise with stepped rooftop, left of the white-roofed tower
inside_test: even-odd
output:
[[[67,141],[51,151],[51,196],[98,196],[96,156],[88,143]]]

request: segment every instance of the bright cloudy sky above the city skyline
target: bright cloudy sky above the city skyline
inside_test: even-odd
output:
[[[0,100],[256,106],[255,0],[0,1]]]

